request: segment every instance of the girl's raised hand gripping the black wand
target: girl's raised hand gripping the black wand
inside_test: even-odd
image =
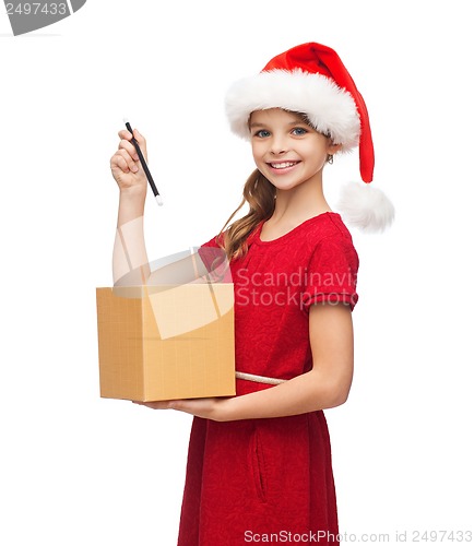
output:
[[[111,174],[120,189],[125,192],[143,192],[146,194],[146,175],[140,163],[135,146],[130,142],[132,134],[127,129],[119,131],[119,147],[110,158]],[[137,129],[133,130],[133,136],[139,143],[140,150],[147,161],[146,140]]]

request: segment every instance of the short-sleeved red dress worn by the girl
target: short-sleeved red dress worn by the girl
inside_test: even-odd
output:
[[[260,239],[262,225],[249,237],[247,254],[230,263],[236,369],[292,379],[312,365],[309,307],[344,301],[354,308],[358,258],[336,213],[320,214],[272,241]],[[237,379],[237,395],[268,388]],[[316,537],[319,545],[333,545],[336,535],[322,411],[228,423],[194,417],[178,546]]]

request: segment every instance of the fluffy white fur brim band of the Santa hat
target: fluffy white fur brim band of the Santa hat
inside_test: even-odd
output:
[[[342,151],[359,144],[360,120],[352,95],[322,74],[300,69],[260,72],[234,83],[225,106],[230,129],[245,139],[250,136],[252,111],[284,108],[306,114],[315,129],[342,144]]]

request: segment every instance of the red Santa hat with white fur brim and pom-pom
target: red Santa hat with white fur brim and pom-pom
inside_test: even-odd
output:
[[[367,107],[333,49],[309,43],[277,55],[259,74],[234,83],[225,105],[232,130],[245,139],[250,138],[252,111],[284,108],[305,114],[343,152],[359,146],[360,177],[366,183],[346,186],[341,214],[348,224],[368,232],[383,230],[393,222],[392,203],[370,186],[374,144]]]

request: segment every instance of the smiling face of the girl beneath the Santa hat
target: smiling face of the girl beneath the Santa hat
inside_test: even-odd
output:
[[[341,147],[281,108],[253,111],[249,127],[257,168],[281,190],[321,179],[328,155]]]

